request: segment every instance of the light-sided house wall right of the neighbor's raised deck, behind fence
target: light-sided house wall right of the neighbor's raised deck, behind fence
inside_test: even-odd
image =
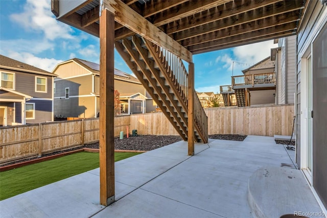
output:
[[[295,36],[276,39],[278,48],[271,49],[275,61],[276,104],[294,103],[295,99]]]

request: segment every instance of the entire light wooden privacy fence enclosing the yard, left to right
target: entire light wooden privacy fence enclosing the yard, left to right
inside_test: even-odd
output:
[[[292,134],[294,105],[206,108],[208,134]],[[178,135],[163,113],[115,117],[114,135]],[[99,118],[0,128],[0,163],[99,141]]]

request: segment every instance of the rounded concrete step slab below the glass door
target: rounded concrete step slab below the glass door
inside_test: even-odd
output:
[[[256,170],[248,182],[248,203],[254,216],[260,218],[300,212],[321,217],[323,213],[302,172],[286,167]]]

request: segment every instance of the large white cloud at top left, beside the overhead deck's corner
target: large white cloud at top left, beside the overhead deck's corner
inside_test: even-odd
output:
[[[42,32],[46,39],[73,39],[73,29],[57,21],[51,12],[49,0],[27,0],[22,13],[11,14],[10,18],[27,31]]]

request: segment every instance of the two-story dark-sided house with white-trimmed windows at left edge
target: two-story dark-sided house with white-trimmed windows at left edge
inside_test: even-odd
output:
[[[0,74],[0,126],[53,121],[55,74],[3,55]]]

